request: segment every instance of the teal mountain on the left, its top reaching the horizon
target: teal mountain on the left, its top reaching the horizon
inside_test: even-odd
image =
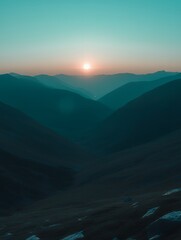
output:
[[[0,100],[70,138],[81,137],[111,113],[102,103],[76,93],[8,74],[0,75]]]

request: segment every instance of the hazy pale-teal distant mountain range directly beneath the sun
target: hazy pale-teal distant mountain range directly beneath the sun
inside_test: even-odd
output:
[[[174,78],[177,74],[179,73],[166,71],[148,74],[118,73],[95,76],[70,76],[64,74],[50,76],[41,74],[34,76],[34,80],[38,80],[39,83],[51,88],[67,90],[97,100],[128,83],[154,81],[167,77]],[[10,75],[16,78],[27,77],[16,73],[10,73]]]

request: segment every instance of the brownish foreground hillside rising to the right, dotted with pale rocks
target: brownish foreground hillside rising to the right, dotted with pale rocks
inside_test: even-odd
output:
[[[0,224],[5,227],[0,237],[4,239],[10,232],[22,240],[33,235],[76,239],[80,233],[90,240],[148,239],[153,222],[168,213],[174,218],[180,209],[180,155],[179,129],[104,158],[82,172],[84,184],[76,189],[37,202],[13,216],[1,216]],[[166,228],[158,226],[158,234],[160,229],[169,229],[163,239],[180,239],[180,222],[175,224],[171,218]]]

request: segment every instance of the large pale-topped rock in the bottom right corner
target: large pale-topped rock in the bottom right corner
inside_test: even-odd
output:
[[[153,238],[155,236],[164,237],[179,230],[180,227],[181,211],[170,212],[148,226],[148,236],[149,238]],[[157,237],[157,239],[159,238]]]

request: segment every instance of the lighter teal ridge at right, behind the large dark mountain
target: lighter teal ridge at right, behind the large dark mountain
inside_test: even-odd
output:
[[[167,82],[181,78],[181,74],[164,77],[154,81],[130,82],[99,99],[100,102],[117,110],[133,99]]]

